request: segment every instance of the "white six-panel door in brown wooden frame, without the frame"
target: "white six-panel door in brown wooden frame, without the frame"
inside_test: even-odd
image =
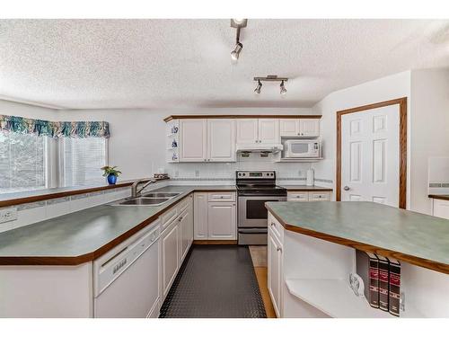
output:
[[[399,206],[399,105],[341,116],[341,200]]]

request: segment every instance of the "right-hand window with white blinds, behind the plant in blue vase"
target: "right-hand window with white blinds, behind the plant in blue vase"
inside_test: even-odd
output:
[[[61,182],[79,186],[104,182],[100,168],[106,165],[107,140],[103,137],[61,139]]]

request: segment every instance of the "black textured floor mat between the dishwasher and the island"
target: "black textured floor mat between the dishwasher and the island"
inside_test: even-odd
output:
[[[267,317],[248,247],[193,245],[160,317]]]

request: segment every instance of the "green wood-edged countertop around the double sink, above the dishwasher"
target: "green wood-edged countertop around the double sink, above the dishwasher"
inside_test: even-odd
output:
[[[92,261],[151,224],[192,191],[235,191],[235,186],[167,186],[181,194],[161,206],[101,205],[0,234],[1,264],[81,264]]]

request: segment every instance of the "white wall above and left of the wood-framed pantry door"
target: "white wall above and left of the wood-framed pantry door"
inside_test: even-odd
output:
[[[322,114],[321,140],[324,160],[313,164],[315,175],[332,180],[335,193],[337,111],[409,96],[410,72],[406,71],[330,93],[316,104],[313,109]],[[408,112],[409,105],[408,100]]]

